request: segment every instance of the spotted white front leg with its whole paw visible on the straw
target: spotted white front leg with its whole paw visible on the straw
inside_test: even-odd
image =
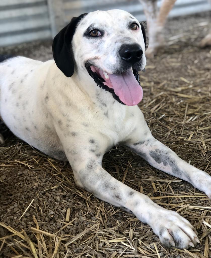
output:
[[[86,152],[83,148],[83,151],[74,149],[74,157],[69,156],[68,159],[78,186],[101,200],[132,211],[138,219],[151,226],[165,246],[188,248],[199,243],[194,228],[186,219],[158,206],[148,196],[133,190],[106,172],[101,166],[102,156],[95,157],[94,152]]]

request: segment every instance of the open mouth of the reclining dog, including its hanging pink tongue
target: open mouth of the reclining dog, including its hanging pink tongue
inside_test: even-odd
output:
[[[95,83],[112,93],[113,98],[128,106],[137,105],[143,97],[139,74],[135,69],[128,69],[121,74],[107,74],[95,66],[86,66]]]

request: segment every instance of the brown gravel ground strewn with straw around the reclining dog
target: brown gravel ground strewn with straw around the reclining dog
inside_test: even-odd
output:
[[[211,47],[198,47],[208,16],[168,21],[166,48],[140,74],[140,108],[157,139],[210,174]],[[0,54],[44,61],[52,58],[51,42],[2,47]],[[103,167],[116,179],[179,212],[197,229],[196,247],[166,248],[134,215],[77,188],[68,163],[47,157],[3,124],[1,133],[0,257],[211,257],[211,201],[189,183],[123,147],[104,155]]]

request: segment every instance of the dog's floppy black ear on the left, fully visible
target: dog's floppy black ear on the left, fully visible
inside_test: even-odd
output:
[[[85,15],[87,15],[87,13],[73,17],[70,23],[60,30],[53,39],[53,58],[58,68],[67,77],[71,77],[74,73],[74,58],[71,53],[71,41],[79,21],[84,18]]]

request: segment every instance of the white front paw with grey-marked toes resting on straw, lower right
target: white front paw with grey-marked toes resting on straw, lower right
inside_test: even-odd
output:
[[[199,243],[196,230],[176,212],[162,211],[153,224],[152,229],[164,246],[188,249]]]

